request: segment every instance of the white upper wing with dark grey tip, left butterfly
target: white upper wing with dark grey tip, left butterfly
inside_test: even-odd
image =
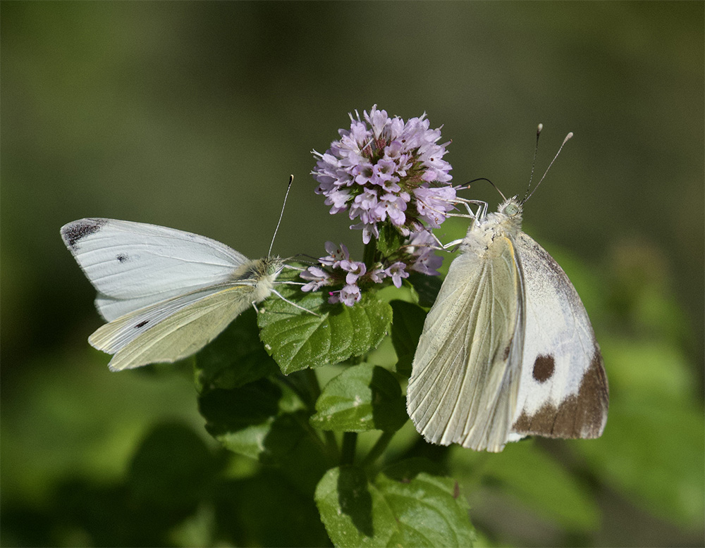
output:
[[[97,309],[108,321],[226,282],[248,261],[214,239],[127,220],[75,220],[61,237],[97,289]]]

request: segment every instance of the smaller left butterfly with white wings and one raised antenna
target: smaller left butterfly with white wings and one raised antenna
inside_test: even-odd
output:
[[[271,246],[250,260],[191,232],[104,218],[68,223],[61,237],[98,291],[95,305],[108,323],[88,342],[114,354],[113,371],[183,359],[249,306],[271,293],[283,299],[274,285],[285,265]]]

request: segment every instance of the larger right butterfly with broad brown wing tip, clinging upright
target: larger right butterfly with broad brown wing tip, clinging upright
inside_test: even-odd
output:
[[[605,427],[600,347],[568,276],[522,232],[530,196],[489,215],[470,202],[479,208],[468,207],[467,235],[448,244],[460,243],[460,255],[424,323],[407,389],[409,416],[429,442],[500,452],[526,435],[593,438]]]

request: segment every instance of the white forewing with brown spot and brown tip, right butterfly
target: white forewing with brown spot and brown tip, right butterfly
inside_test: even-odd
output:
[[[568,276],[531,237],[520,232],[526,330],[513,421],[524,435],[599,437],[607,421],[608,385],[600,347]]]

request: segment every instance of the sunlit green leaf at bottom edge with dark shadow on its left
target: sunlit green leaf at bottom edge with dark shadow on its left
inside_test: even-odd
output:
[[[321,521],[338,547],[472,546],[474,531],[458,483],[419,473],[369,482],[361,468],[329,470],[315,494]]]

